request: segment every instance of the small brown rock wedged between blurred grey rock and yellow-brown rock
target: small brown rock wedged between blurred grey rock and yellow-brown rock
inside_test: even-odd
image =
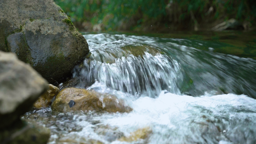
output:
[[[54,96],[56,96],[59,93],[60,89],[51,84],[49,84],[48,86],[49,88],[47,92],[45,92],[43,95],[39,97],[39,99],[37,99],[33,107],[35,108],[48,107],[52,103],[52,99],[54,98]]]

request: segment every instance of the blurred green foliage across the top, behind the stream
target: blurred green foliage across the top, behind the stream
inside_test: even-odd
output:
[[[71,20],[103,23],[106,30],[116,29],[122,24],[140,27],[153,23],[191,22],[203,20],[213,8],[209,19],[235,18],[254,24],[256,0],[54,0]],[[177,18],[176,18],[177,17]],[[174,20],[176,18],[177,20]],[[195,21],[195,20],[194,20]],[[150,25],[150,24],[149,24]]]

